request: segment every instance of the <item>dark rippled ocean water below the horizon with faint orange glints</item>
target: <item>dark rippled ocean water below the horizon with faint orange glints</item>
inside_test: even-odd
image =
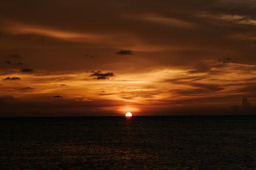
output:
[[[256,116],[0,118],[0,169],[256,169]]]

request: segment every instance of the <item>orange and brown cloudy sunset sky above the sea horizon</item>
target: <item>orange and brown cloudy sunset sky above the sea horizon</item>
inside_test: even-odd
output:
[[[0,2],[0,116],[244,114],[244,102],[255,110],[254,0]]]

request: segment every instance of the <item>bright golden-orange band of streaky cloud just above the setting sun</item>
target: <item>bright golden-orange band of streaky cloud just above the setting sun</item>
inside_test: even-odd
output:
[[[217,74],[208,72],[210,70],[189,74],[186,69],[165,68],[141,74],[116,74],[109,80],[93,79],[90,77],[91,72],[51,76],[14,74],[5,77],[18,76],[22,80],[3,81],[1,87],[5,91],[3,96],[8,96],[11,92],[14,98],[25,101],[33,99],[44,102],[53,100],[55,96],[61,96],[62,102],[113,100],[113,104],[105,106],[99,103],[98,108],[91,109],[115,113],[126,110],[141,114],[148,112],[148,108],[152,109],[152,105],[160,107],[164,104],[169,108],[176,108],[200,99],[201,105],[228,105],[230,101],[236,101],[238,95],[251,95],[245,89],[250,89],[256,83],[256,70],[251,71],[250,75],[246,74],[246,70],[254,68],[253,65],[226,63],[221,67],[222,72]],[[229,96],[229,101],[226,101],[225,96]],[[114,101],[118,101],[118,106]]]

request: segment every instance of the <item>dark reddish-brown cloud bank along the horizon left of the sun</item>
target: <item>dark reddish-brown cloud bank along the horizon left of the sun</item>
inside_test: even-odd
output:
[[[102,108],[123,106],[123,102],[113,102],[113,100],[84,101],[84,98],[36,98],[31,101],[19,100],[17,98],[13,98],[12,96],[0,96],[0,106],[0,116],[102,116],[114,114],[118,115],[118,112],[115,111],[115,109],[108,112],[104,111]],[[75,108],[75,110],[71,108]],[[99,113],[95,113],[98,111]],[[35,115],[35,113],[37,114]]]

